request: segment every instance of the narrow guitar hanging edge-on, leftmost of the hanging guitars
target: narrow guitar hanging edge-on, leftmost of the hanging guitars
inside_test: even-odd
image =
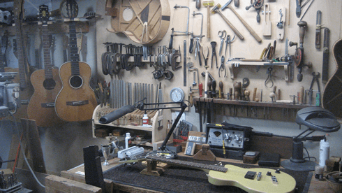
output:
[[[18,72],[19,74],[19,76],[15,76],[13,80],[14,83],[20,83],[20,103],[18,104],[17,112],[15,113],[15,117],[17,117],[17,119],[28,118],[27,105],[29,104],[29,100],[31,99],[32,94],[34,94],[34,88],[32,87],[29,80],[29,76],[31,75],[33,69],[31,69],[31,66],[29,66],[29,63],[27,62],[26,43],[24,41],[22,29],[22,20],[24,15],[23,3],[23,0],[15,0],[13,6],[15,31],[17,33],[16,44],[18,69],[8,70],[8,72]]]

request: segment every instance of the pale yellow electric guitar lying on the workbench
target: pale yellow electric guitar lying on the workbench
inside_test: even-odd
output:
[[[142,159],[121,162],[133,163],[146,159],[167,164],[186,166],[193,169],[201,169],[208,173],[208,180],[212,185],[235,186],[247,192],[295,192],[295,178],[290,176],[288,173],[274,169],[244,169],[229,164],[225,166],[208,165],[150,155],[147,155],[147,157]]]

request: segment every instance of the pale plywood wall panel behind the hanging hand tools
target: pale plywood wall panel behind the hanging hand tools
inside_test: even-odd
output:
[[[239,1],[239,7],[234,5],[234,1],[230,3],[230,6],[246,21],[246,23],[255,31],[256,34],[262,39],[259,43],[253,38],[250,32],[244,27],[244,24],[239,20],[237,15],[232,12],[230,8],[226,8],[225,10],[221,10],[221,13],[224,17],[226,17],[232,25],[244,36],[244,39],[241,40],[237,37],[237,35],[232,31],[232,29],[228,26],[228,24],[223,20],[223,17],[218,13],[209,13],[209,19],[211,21],[211,38],[207,38],[207,8],[203,6],[205,1],[201,1],[200,9],[195,8],[195,1],[179,1],[179,0],[170,0],[168,3],[170,4],[170,25],[168,27],[168,32],[165,34],[161,41],[152,44],[152,46],[158,49],[158,46],[169,45],[171,29],[174,28],[174,31],[186,31],[186,26],[188,22],[188,31],[193,31],[193,34],[200,34],[202,17],[201,15],[193,15],[193,13],[202,13],[203,15],[203,25],[202,25],[202,34],[205,37],[200,41],[200,45],[205,52],[209,50],[209,59],[208,64],[211,66],[211,41],[216,41],[216,54],[217,54],[217,63],[218,67],[221,66],[221,55],[218,55],[220,48],[220,38],[218,36],[218,31],[225,30],[227,35],[230,35],[231,38],[235,36],[235,40],[232,41],[229,50],[226,53],[225,57],[225,69],[227,71],[227,76],[223,77],[221,72],[221,77],[218,76],[218,68],[216,67],[216,62],[211,67],[209,67],[208,71],[211,75],[216,79],[216,82],[223,81],[223,91],[228,92],[229,88],[233,87],[234,81],[242,82],[243,78],[248,78],[250,80],[250,85],[247,87],[248,90],[253,91],[254,87],[258,88],[257,96],[260,96],[260,90],[263,90],[262,101],[271,101],[269,98],[269,93],[273,91],[272,84],[270,80],[273,81],[273,85],[276,86],[277,90],[281,91],[281,94],[278,96],[278,99],[283,100],[292,100],[290,95],[296,95],[299,92],[299,88],[301,86],[307,90],[311,85],[311,80],[313,78],[312,73],[320,73],[322,74],[322,55],[323,55],[323,28],[327,27],[330,30],[329,34],[329,78],[332,76],[336,69],[336,62],[332,55],[332,46],[334,43],[341,38],[341,7],[342,1],[308,1],[308,3],[302,8],[302,21],[307,22],[307,27],[305,28],[305,36],[304,36],[304,62],[312,62],[312,68],[308,69],[308,67],[304,67],[302,69],[303,80],[299,82],[297,80],[297,74],[299,73],[298,69],[294,69],[294,79],[288,82],[285,81],[283,68],[280,66],[274,66],[272,69],[272,76],[270,80],[267,80],[267,66],[261,66],[258,68],[257,66],[239,66],[235,68],[235,78],[234,80],[230,78],[230,71],[228,70],[228,66],[226,62],[228,62],[228,57],[232,58],[245,58],[245,59],[260,59],[260,55],[262,54],[262,50],[267,48],[267,45],[271,43],[274,45],[274,41],[276,41],[276,50],[274,52],[274,58],[283,57],[285,55],[285,39],[288,38],[289,41],[297,42],[299,44],[299,26],[297,23],[300,20],[300,17],[296,16],[296,1],[269,1],[265,0],[264,5],[267,4],[269,8],[269,20],[271,21],[271,36],[263,36],[265,29],[265,18],[264,8],[261,7],[260,10],[260,23],[257,22],[257,11],[255,8],[250,8],[246,10],[246,6],[250,6],[250,1]],[[101,55],[105,52],[105,46],[103,43],[105,42],[113,42],[113,43],[133,43],[134,45],[140,45],[139,43],[134,43],[130,39],[128,39],[124,34],[121,33],[113,33],[111,27],[112,17],[108,15],[104,15],[105,13],[105,1],[97,1],[96,12],[103,13],[102,20],[98,20],[96,22],[96,41],[97,41],[97,63],[98,63],[98,74],[101,78],[105,80],[110,80],[110,76],[104,76],[101,74]],[[214,6],[221,4],[221,6],[225,5],[227,1],[214,1]],[[302,5],[304,2],[302,2]],[[174,6],[187,6],[187,8],[174,8]],[[214,7],[213,6],[213,7]],[[212,10],[212,8],[210,10]],[[279,40],[276,34],[276,24],[280,21],[279,10],[285,8],[285,24],[284,24],[284,37],[283,40]],[[308,10],[307,10],[308,9]],[[304,12],[307,10],[305,15]],[[316,28],[316,13],[320,10],[322,12],[322,29],[321,29],[321,45],[320,48],[315,48],[315,28]],[[190,13],[189,20],[188,11]],[[176,33],[174,33],[176,34]],[[193,87],[193,72],[186,73],[186,86],[184,86],[184,71],[183,68],[186,67],[183,64],[184,56],[184,41],[186,41],[186,49],[187,49],[187,59],[186,63],[192,62],[193,67],[198,68],[198,71],[202,73],[205,71],[204,59],[202,57],[202,66],[200,66],[198,61],[198,55],[195,59],[195,51],[193,53],[189,53],[189,45],[190,45],[191,36],[174,36],[173,40],[173,48],[181,49],[181,57],[180,64],[182,66],[178,71],[172,71],[174,73],[174,78],[171,80],[165,80],[164,78],[160,80],[155,80],[152,76],[152,72],[154,71],[153,67],[150,67],[148,64],[141,68],[135,68],[132,71],[121,71],[118,76],[113,76],[114,79],[122,79],[126,81],[130,81],[132,83],[161,83],[163,87],[164,93],[164,101],[170,101],[170,90],[173,87],[181,87],[182,90],[186,93],[185,99],[188,99],[189,87]],[[225,45],[223,45],[223,52],[225,50]],[[230,53],[229,53],[230,52]],[[295,55],[295,46],[288,47],[288,54]],[[223,54],[222,54],[223,55]],[[199,77],[200,83],[205,84],[205,78]],[[265,81],[267,80],[267,82]],[[197,81],[197,77],[195,79]],[[320,90],[323,91],[325,85],[320,83]],[[313,85],[313,90],[317,90],[318,85]],[[198,85],[193,88],[198,88]],[[216,87],[218,89],[218,87]],[[193,92],[193,96],[198,96],[198,92]]]

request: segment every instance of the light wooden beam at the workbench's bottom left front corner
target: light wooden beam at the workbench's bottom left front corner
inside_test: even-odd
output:
[[[83,192],[83,193],[102,193],[101,188],[74,180],[68,180],[59,176],[49,175],[45,178],[45,192],[64,193],[64,192]]]

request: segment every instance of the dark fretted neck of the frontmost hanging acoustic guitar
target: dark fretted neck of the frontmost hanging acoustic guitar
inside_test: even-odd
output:
[[[71,63],[71,75],[80,75],[80,66],[78,64],[78,48],[77,48],[77,35],[76,35],[76,23],[74,21],[69,24],[69,42],[70,42],[70,63]]]

